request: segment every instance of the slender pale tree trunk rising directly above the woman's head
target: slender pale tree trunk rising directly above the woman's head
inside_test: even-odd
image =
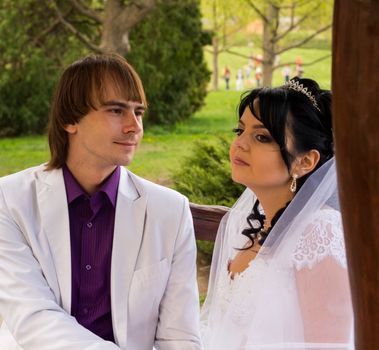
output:
[[[275,62],[275,43],[279,23],[279,8],[271,2],[266,8],[266,21],[263,21],[263,86],[271,86]]]

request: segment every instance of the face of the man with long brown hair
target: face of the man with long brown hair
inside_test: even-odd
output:
[[[108,86],[105,102],[97,110],[66,126],[67,162],[99,170],[130,164],[143,135],[144,111],[142,103],[126,101]]]

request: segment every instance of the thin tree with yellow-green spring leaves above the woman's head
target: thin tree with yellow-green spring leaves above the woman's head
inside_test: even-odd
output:
[[[273,71],[284,65],[275,66],[276,56],[305,45],[332,26],[332,0],[246,1],[263,23],[262,64],[265,86],[271,85]],[[291,32],[300,28],[303,32],[307,31],[307,35],[300,39],[290,38]]]

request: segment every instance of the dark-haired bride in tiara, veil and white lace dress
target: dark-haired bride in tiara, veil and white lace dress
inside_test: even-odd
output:
[[[202,310],[206,350],[347,349],[352,308],[331,94],[310,79],[255,89],[230,148],[245,185],[223,218]]]

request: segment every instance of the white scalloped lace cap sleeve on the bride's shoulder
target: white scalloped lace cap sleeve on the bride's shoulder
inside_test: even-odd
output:
[[[293,253],[293,262],[297,270],[311,269],[329,256],[347,268],[341,215],[334,209],[325,208],[318,212],[301,235]]]

